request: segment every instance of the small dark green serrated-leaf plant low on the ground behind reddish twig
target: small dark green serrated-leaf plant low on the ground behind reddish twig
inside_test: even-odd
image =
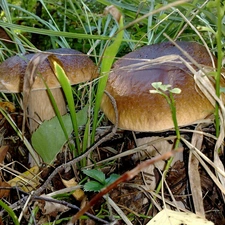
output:
[[[101,189],[110,185],[120,177],[118,174],[113,173],[108,178],[106,178],[105,174],[102,171],[95,169],[83,170],[83,173],[89,176],[90,178],[94,179],[85,183],[84,190],[94,192],[99,192]]]

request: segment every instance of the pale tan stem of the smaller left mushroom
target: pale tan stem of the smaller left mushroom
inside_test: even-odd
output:
[[[66,114],[66,103],[61,88],[52,89],[51,93],[56,101],[60,114]],[[36,90],[30,93],[28,116],[30,118],[29,124],[31,133],[38,128],[40,123],[45,120],[50,120],[55,116],[55,111],[47,90]]]

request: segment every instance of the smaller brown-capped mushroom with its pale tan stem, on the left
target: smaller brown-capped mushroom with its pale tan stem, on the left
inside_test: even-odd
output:
[[[79,51],[60,48],[48,50],[47,52],[54,54],[61,61],[71,85],[89,81],[97,76],[97,69],[94,63]],[[25,70],[33,56],[34,54],[13,56],[0,64],[0,91],[5,93],[19,93],[23,91]],[[64,95],[47,59],[38,65],[37,71],[51,89],[61,115],[65,114],[67,110]],[[31,118],[31,132],[39,125],[36,121],[49,120],[55,116],[44,82],[38,74],[35,77],[29,96],[28,115]]]

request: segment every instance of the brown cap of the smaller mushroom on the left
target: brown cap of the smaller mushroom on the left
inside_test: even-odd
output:
[[[91,80],[97,76],[94,63],[88,56],[79,51],[60,48],[48,50],[47,52],[53,53],[62,62],[71,85]],[[33,56],[34,54],[13,56],[0,64],[0,91],[6,93],[22,92],[27,63]],[[38,72],[50,89],[60,87],[47,59],[38,66]],[[37,76],[32,90],[41,89],[46,88],[41,78]]]

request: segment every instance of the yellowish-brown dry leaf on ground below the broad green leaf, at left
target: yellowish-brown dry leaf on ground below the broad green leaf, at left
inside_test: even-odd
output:
[[[11,179],[8,183],[11,187],[17,186],[23,191],[30,192],[39,185],[39,178],[37,176],[38,173],[38,166],[34,166],[19,176]]]

